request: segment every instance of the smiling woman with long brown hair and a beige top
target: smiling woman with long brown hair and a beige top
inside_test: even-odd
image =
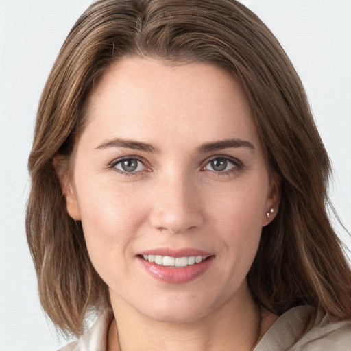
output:
[[[27,237],[64,350],[345,350],[351,274],[291,62],[229,0],[97,1],[38,108]],[[44,186],[43,186],[44,185]]]

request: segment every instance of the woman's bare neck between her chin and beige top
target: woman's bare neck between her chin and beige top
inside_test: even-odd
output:
[[[249,351],[262,336],[261,312],[245,282],[237,294],[205,317],[184,324],[158,322],[142,315],[116,296],[116,321],[108,335],[108,350]]]

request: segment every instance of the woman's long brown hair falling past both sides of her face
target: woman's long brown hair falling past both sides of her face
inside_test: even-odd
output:
[[[66,211],[53,156],[64,156],[60,169],[69,172],[90,90],[126,56],[211,62],[241,83],[281,193],[247,276],[252,293],[277,314],[309,304],[351,318],[350,267],[327,214],[330,162],[302,83],[274,35],[234,0],[99,0],[75,23],[53,65],[29,156],[27,239],[40,301],[54,324],[81,335],[86,313],[110,304],[82,226]]]

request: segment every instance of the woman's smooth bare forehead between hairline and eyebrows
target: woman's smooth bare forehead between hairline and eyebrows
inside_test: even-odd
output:
[[[125,58],[101,77],[89,105],[87,129],[100,139],[257,139],[243,89],[214,64]]]

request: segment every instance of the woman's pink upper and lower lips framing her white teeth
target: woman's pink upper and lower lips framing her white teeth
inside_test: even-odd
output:
[[[195,263],[195,265],[189,265],[186,267],[164,267],[162,265],[156,265],[156,263],[145,261],[142,256],[149,254],[172,257],[206,256],[207,258],[201,263]],[[212,265],[215,256],[209,252],[191,248],[179,250],[159,248],[143,251],[141,254],[138,254],[136,258],[143,269],[145,269],[145,271],[153,278],[171,284],[182,284],[185,282],[190,282],[191,280],[194,280],[198,276],[204,274],[204,272]]]

